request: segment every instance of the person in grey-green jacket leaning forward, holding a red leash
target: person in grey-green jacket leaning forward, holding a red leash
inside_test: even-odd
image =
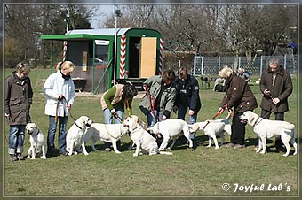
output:
[[[144,82],[147,94],[141,99],[139,108],[147,115],[148,127],[153,127],[157,120],[170,119],[176,96],[174,80],[175,73],[168,69],[162,76],[152,76]]]

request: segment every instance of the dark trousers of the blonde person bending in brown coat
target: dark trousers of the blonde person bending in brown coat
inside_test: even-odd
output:
[[[244,144],[244,136],[245,136],[245,123],[242,123],[241,119],[239,119],[240,115],[243,112],[234,113],[233,121],[232,121],[232,135],[231,142],[235,144]]]

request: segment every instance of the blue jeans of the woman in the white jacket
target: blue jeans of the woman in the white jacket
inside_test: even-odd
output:
[[[49,116],[49,128],[47,135],[47,153],[52,156],[54,153],[54,137],[57,130],[57,123],[54,116]],[[66,126],[68,124],[68,116],[58,117],[59,121],[59,154],[66,152]]]

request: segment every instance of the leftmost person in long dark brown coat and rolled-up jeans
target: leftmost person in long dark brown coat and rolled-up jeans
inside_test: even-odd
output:
[[[33,98],[29,72],[28,64],[18,63],[16,70],[4,83],[4,112],[10,124],[8,153],[11,161],[24,159],[22,152],[25,127],[30,122],[29,109]]]

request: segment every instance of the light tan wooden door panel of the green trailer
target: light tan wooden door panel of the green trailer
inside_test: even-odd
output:
[[[156,73],[156,39],[141,38],[139,78],[148,78]]]

